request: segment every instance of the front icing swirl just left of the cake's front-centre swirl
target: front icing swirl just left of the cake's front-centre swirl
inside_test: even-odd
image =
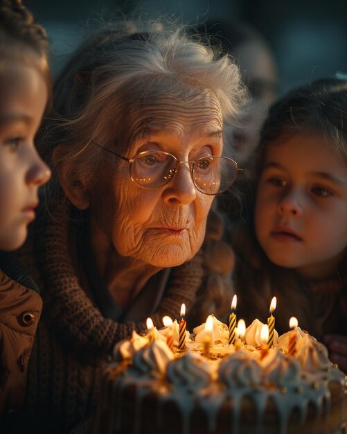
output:
[[[211,383],[212,370],[200,356],[190,353],[168,364],[166,378],[177,390],[194,394]]]

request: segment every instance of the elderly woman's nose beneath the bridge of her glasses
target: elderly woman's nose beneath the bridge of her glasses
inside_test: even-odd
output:
[[[174,204],[188,205],[196,197],[197,189],[193,182],[189,164],[178,164],[175,175],[166,184],[166,189],[163,191],[164,200]]]

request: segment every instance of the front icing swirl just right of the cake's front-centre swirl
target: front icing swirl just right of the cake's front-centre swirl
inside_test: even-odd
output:
[[[275,349],[270,351],[262,362],[265,383],[269,383],[273,388],[290,390],[301,383],[301,365],[294,358]]]

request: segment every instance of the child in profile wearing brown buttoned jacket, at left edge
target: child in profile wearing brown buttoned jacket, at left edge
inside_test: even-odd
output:
[[[26,239],[50,170],[34,145],[51,79],[43,29],[20,1],[0,3],[0,416],[21,406],[42,300],[10,253]],[[1,426],[3,426],[1,424]],[[8,431],[6,431],[8,432]]]

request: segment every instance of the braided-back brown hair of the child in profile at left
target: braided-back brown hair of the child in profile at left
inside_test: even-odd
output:
[[[35,67],[46,81],[48,101],[51,99],[48,37],[21,0],[0,2],[0,59],[0,70],[9,60]]]

